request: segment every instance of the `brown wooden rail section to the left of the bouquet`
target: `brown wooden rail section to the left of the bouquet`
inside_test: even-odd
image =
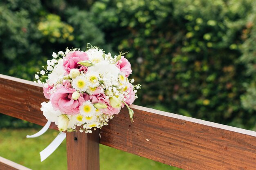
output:
[[[0,74],[0,113],[44,126],[40,104],[46,101],[42,85]],[[54,123],[50,128],[58,130]]]

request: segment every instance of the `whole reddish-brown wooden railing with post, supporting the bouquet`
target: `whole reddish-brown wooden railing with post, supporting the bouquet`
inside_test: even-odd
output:
[[[45,100],[41,85],[0,75],[0,113],[43,126],[47,120],[40,103]],[[254,131],[136,105],[131,108],[133,123],[123,108],[99,131],[67,133],[68,170],[99,170],[99,144],[184,170],[256,170]],[[57,130],[54,124],[50,128]],[[9,165],[3,160],[0,170]]]

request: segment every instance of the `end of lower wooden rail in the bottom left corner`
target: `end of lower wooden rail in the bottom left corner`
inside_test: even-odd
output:
[[[31,170],[25,166],[18,163],[0,157],[0,170]]]

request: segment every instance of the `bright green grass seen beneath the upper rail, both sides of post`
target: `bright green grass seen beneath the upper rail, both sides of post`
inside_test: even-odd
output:
[[[34,134],[38,129],[1,129],[0,156],[33,170],[66,170],[66,141],[40,162],[39,152],[47,147],[58,135],[56,130],[47,132],[37,138],[27,139],[26,135]],[[101,170],[180,170],[163,163],[152,161],[121,150],[100,145]]]

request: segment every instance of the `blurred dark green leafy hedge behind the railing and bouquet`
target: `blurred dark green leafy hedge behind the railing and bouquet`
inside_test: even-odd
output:
[[[89,42],[129,51],[135,104],[256,130],[255,23],[255,0],[1,0],[0,73],[34,80]]]

